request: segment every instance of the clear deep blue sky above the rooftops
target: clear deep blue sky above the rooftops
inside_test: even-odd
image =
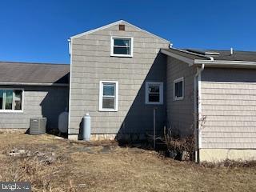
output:
[[[67,39],[120,19],[176,48],[256,50],[256,1],[1,0],[0,61],[70,63]]]

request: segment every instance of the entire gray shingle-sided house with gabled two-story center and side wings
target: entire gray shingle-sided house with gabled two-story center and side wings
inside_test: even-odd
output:
[[[0,128],[69,110],[68,138],[194,135],[199,161],[256,158],[256,52],[175,49],[125,21],[70,38],[70,66],[0,62]],[[69,77],[70,76],[70,77]],[[70,79],[70,81],[68,81]]]

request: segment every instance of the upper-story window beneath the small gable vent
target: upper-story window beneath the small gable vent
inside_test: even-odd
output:
[[[111,56],[133,57],[133,38],[111,37]]]

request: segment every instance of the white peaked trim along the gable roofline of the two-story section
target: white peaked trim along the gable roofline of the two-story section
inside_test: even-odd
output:
[[[101,27],[98,27],[98,28],[96,28],[96,29],[94,29],[94,30],[88,30],[88,31],[83,32],[83,33],[81,33],[81,34],[76,34],[76,35],[74,35],[74,36],[72,36],[72,37],[70,37],[70,38],[80,38],[80,37],[82,37],[83,35],[91,34],[91,33],[94,33],[94,32],[96,32],[96,31],[98,31],[98,30],[105,30],[106,28],[109,28],[109,27],[111,27],[111,26],[115,26],[115,25],[118,25],[118,24],[121,24],[121,23],[124,23],[124,24],[126,24],[127,26],[132,26],[132,27],[134,27],[134,28],[137,29],[137,30],[140,30],[140,31],[142,31],[142,32],[145,32],[146,34],[150,34],[150,35],[154,36],[154,38],[160,38],[159,36],[157,36],[157,35],[155,35],[155,34],[152,34],[152,33],[150,33],[149,31],[142,30],[142,29],[139,28],[138,26],[134,26],[134,25],[132,25],[132,24],[130,24],[129,22],[126,22],[126,21],[124,21],[124,20],[119,20],[119,21],[117,21],[117,22],[112,22],[112,23],[110,23],[110,24],[108,24],[108,25],[106,25],[106,26],[101,26]],[[164,41],[164,42],[170,43],[170,41],[168,41],[168,40],[166,40],[166,39],[164,39],[164,38],[160,38],[160,39],[162,39],[162,41]]]

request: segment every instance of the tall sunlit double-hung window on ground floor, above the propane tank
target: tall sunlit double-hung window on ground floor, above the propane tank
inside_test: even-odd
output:
[[[118,82],[100,82],[99,110],[118,111]]]

